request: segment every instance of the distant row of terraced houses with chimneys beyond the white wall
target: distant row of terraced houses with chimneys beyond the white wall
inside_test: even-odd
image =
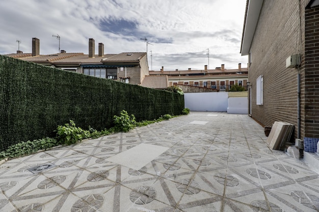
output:
[[[172,85],[189,85],[203,88],[212,88],[219,91],[228,91],[233,84],[247,87],[248,69],[242,68],[242,64],[238,64],[238,69],[225,69],[225,65],[216,69],[207,69],[207,65],[203,70],[182,70],[179,71],[149,71],[151,76],[168,76],[169,86]],[[203,89],[203,92],[204,89]]]

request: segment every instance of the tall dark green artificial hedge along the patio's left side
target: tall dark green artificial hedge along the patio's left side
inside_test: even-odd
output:
[[[55,137],[58,125],[96,130],[113,126],[121,110],[137,121],[179,115],[183,95],[41,66],[0,55],[0,151]]]

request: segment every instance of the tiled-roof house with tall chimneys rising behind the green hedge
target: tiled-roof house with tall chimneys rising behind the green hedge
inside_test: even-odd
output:
[[[148,75],[146,52],[122,52],[119,54],[104,54],[103,43],[98,44],[98,54],[95,54],[95,41],[89,39],[89,54],[60,53],[40,55],[40,40],[32,39],[32,53],[17,51],[7,54],[14,58],[34,62],[52,68],[77,72],[99,78],[113,79],[130,84],[141,84]]]

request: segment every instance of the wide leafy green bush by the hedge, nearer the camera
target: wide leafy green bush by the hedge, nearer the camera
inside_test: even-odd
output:
[[[75,123],[72,120],[70,120],[70,124],[59,125],[56,132],[58,141],[66,145],[90,138],[90,131],[75,127]]]

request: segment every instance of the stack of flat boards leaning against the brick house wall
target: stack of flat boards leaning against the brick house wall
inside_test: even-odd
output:
[[[283,150],[285,143],[290,141],[294,132],[294,125],[287,122],[275,122],[267,139],[268,145],[272,149]]]

